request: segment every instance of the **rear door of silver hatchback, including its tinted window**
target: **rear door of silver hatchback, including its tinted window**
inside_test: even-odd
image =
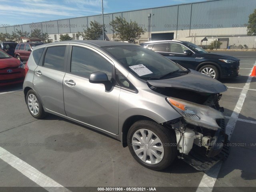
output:
[[[34,88],[46,109],[66,115],[62,81],[66,70],[68,44],[48,46],[43,55],[42,64],[34,71]]]

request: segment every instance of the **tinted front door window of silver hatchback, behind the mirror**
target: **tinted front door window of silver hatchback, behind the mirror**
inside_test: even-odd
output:
[[[71,73],[89,78],[93,72],[101,71],[112,78],[113,65],[92,50],[73,46],[71,56]]]

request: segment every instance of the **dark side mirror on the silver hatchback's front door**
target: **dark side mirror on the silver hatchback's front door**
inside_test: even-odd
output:
[[[105,89],[107,91],[109,91],[112,88],[112,84],[108,80],[107,74],[101,71],[93,72],[92,74],[90,74],[89,82],[96,84],[104,84]]]

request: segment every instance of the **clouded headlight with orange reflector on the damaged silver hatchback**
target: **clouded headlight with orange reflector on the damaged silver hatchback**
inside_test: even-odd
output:
[[[219,112],[209,106],[172,97],[168,97],[166,100],[179,114],[184,117],[186,122],[196,126],[218,130],[220,126],[218,126],[216,119],[225,118],[222,112]]]

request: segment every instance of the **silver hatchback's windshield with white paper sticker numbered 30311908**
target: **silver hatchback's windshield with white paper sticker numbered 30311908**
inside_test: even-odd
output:
[[[186,70],[160,54],[141,46],[110,46],[102,48],[114,56],[130,72],[144,80],[159,79],[171,72]],[[178,75],[184,75],[184,73],[178,73]]]

